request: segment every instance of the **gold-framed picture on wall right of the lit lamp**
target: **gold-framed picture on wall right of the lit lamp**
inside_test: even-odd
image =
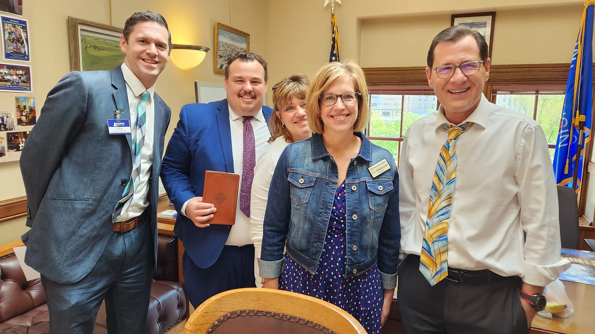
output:
[[[250,34],[222,23],[215,23],[213,71],[225,73],[227,59],[239,51],[250,51]]]

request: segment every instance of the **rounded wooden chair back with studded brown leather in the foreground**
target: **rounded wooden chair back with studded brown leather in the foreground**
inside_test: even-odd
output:
[[[365,334],[349,313],[318,298],[273,289],[235,289],[215,295],[190,316],[183,334]]]

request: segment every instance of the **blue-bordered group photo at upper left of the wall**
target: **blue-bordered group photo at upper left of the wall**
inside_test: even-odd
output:
[[[27,20],[2,16],[2,57],[10,61],[31,61]]]

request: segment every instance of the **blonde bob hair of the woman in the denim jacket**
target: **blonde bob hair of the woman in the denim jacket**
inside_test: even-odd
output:
[[[349,75],[353,80],[355,92],[362,94],[358,99],[358,119],[353,124],[353,131],[361,132],[368,126],[370,110],[368,106],[368,84],[364,70],[352,59],[345,62],[329,62],[318,70],[308,93],[306,94],[306,115],[308,127],[312,133],[322,133],[324,123],[320,119],[320,96],[335,80]]]

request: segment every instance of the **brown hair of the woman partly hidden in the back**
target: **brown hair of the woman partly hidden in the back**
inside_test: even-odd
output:
[[[283,106],[290,103],[293,99],[306,99],[306,92],[310,86],[310,80],[303,74],[292,74],[283,78],[273,86],[273,106],[275,115],[271,116],[268,128],[271,130],[271,138],[268,142],[273,143],[277,137],[283,136],[287,143],[293,143],[295,140],[292,134],[283,126],[281,118],[276,115],[277,112],[283,112]]]

